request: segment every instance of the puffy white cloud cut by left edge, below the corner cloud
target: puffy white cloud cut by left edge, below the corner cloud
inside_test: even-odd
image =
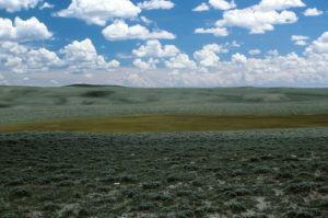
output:
[[[14,22],[10,19],[0,18],[0,41],[39,41],[47,39],[52,36],[47,26],[39,22],[36,18],[22,20],[15,18]]]

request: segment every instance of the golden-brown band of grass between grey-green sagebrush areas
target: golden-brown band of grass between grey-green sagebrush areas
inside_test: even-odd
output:
[[[145,115],[54,119],[0,126],[0,133],[22,130],[84,133],[209,131],[328,127],[324,115]]]

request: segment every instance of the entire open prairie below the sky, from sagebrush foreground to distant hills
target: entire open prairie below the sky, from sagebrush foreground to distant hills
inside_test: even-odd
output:
[[[328,217],[328,89],[1,87],[0,133],[1,218]]]

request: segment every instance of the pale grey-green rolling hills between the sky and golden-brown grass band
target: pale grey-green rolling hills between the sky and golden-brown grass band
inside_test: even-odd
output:
[[[0,87],[0,124],[134,115],[328,114],[328,89]]]

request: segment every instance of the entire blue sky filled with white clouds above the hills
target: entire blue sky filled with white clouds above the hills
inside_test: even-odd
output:
[[[326,0],[0,0],[0,84],[328,87]]]

